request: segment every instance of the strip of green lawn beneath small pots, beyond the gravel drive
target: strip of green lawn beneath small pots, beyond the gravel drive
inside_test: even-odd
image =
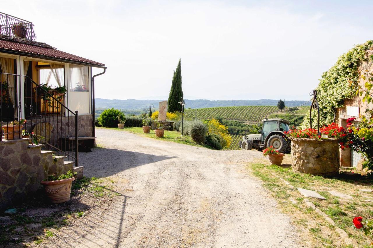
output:
[[[164,140],[169,142],[176,142],[180,144],[188,144],[191,146],[199,146],[199,147],[206,147],[211,149],[211,147],[205,145],[205,144],[197,144],[194,140],[192,140],[189,136],[181,136],[181,133],[178,131],[167,131],[164,130],[164,137],[163,138],[157,138],[156,134],[154,133],[154,130],[150,130],[150,133],[144,133],[142,131],[142,127],[125,127],[124,129],[118,129],[116,127],[96,127],[96,128],[104,128],[104,129],[113,129],[117,130],[119,132],[121,131],[129,131],[131,133],[135,133],[144,137],[157,139],[157,140]]]

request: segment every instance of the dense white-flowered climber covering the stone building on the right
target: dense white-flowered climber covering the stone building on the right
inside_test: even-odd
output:
[[[320,125],[333,122],[336,108],[342,107],[345,99],[355,95],[352,83],[358,83],[358,66],[360,61],[367,61],[366,50],[372,49],[373,40],[352,48],[338,58],[337,62],[328,71],[324,72],[317,86],[317,100],[320,106]],[[370,58],[372,59],[372,58]],[[317,126],[317,111],[312,112],[312,126]],[[310,127],[310,117],[306,116],[302,128]]]

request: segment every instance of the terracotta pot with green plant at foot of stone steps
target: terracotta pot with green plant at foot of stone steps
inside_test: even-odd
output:
[[[52,203],[63,203],[70,200],[71,183],[75,180],[75,175],[76,172],[69,170],[59,177],[54,174],[41,182],[44,185],[47,197]]]

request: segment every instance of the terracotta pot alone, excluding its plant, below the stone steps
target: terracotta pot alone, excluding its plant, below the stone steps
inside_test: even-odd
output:
[[[47,197],[52,203],[62,203],[70,200],[71,183],[75,178],[67,178],[56,181],[42,181]]]

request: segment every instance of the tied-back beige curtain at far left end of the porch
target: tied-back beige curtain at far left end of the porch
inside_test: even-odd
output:
[[[3,73],[10,73],[14,74],[14,59],[13,58],[4,58],[0,57],[0,66],[1,71]],[[14,105],[14,117],[17,118],[17,103],[15,102],[15,89],[14,89],[14,80],[15,77],[11,75],[1,75],[1,82],[7,82],[8,83],[8,95],[10,98],[10,101],[12,101]]]

